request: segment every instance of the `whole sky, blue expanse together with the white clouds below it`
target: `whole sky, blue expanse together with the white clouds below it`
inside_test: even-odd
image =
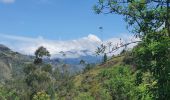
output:
[[[123,17],[95,14],[97,0],[0,0],[0,44],[32,55],[39,46],[60,51],[93,51],[109,40],[133,38]],[[103,27],[103,30],[99,30]]]

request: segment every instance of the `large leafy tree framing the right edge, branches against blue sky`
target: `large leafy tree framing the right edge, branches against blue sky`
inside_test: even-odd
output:
[[[99,0],[94,6],[98,14],[123,15],[128,28],[142,40],[133,54],[137,68],[152,74],[156,85],[150,91],[154,99],[161,100],[170,98],[169,3],[169,0]]]

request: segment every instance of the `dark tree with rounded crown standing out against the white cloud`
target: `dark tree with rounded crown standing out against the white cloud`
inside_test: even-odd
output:
[[[46,56],[46,57],[50,57],[50,53],[48,52],[48,50],[46,48],[44,48],[43,46],[39,47],[36,51],[35,51],[35,60],[34,60],[34,64],[41,64],[42,63],[42,58]]]

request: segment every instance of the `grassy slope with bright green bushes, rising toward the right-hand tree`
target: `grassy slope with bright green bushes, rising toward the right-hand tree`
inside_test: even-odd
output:
[[[141,98],[150,100],[149,94],[139,96],[139,93],[143,94],[147,91],[145,84],[149,82],[145,80],[149,79],[150,75],[145,74],[144,84],[137,86],[135,84],[137,72],[132,65],[126,65],[126,59],[126,56],[113,57],[105,64],[97,65],[76,75],[73,77],[76,90],[70,90],[67,95],[59,98],[69,100],[67,98],[71,96],[73,100],[137,100]]]

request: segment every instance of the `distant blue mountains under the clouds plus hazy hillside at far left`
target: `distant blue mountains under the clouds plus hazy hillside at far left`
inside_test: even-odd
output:
[[[79,51],[78,51],[79,52]],[[84,55],[79,55],[75,58],[57,58],[57,55],[51,59],[44,59],[46,63],[49,63],[53,68],[61,68],[63,64],[68,66],[70,72],[81,71],[86,65],[80,64],[80,60],[84,60],[87,63],[98,63],[101,60],[101,57],[92,56],[88,54],[88,50],[81,51],[68,51],[65,52],[66,55],[78,55],[79,53],[84,53]],[[13,76],[22,75],[23,68],[32,63],[34,56],[24,55],[18,52],[14,52],[5,45],[0,44],[0,80],[10,79]]]

